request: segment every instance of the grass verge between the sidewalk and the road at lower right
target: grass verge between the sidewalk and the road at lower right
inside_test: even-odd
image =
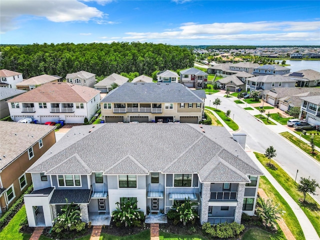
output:
[[[268,162],[268,159],[264,156],[264,154],[257,152],[254,152],[254,154],[263,165]],[[306,202],[301,203],[299,199],[303,199],[303,194],[296,189],[294,180],[278,164],[276,164],[275,161],[271,160],[271,163],[277,168],[277,170],[271,169],[269,167],[266,167],[266,169],[284,188],[284,190],[293,198],[293,200],[301,207],[301,209],[313,225],[314,229],[316,230],[317,234],[320,236],[320,205],[310,196],[306,196]]]

